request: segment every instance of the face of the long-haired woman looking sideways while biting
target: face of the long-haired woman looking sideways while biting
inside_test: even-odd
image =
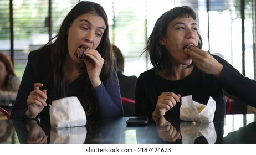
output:
[[[68,29],[68,51],[70,58],[83,62],[74,55],[77,48],[87,46],[96,49],[100,44],[106,24],[97,14],[86,13],[78,16]]]

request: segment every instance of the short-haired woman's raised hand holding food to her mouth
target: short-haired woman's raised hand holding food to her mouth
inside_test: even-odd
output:
[[[188,49],[190,58],[199,70],[206,74],[212,74],[217,78],[221,75],[223,65],[213,58],[211,54],[192,46]]]

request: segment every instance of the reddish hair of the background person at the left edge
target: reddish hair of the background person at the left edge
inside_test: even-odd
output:
[[[4,66],[6,66],[7,75],[3,82],[3,87],[7,89],[7,85],[9,82],[9,76],[15,76],[14,68],[12,60],[8,58],[7,55],[4,55],[3,53],[0,53],[0,61],[3,62]]]

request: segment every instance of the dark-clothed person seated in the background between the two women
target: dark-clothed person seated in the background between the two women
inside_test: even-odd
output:
[[[121,50],[114,44],[112,44],[112,50],[114,52],[117,64],[117,76],[119,79],[120,93],[121,97],[124,100],[126,99],[135,100],[135,85],[137,77],[126,76],[124,75],[124,56],[121,53]],[[127,102],[127,101],[123,101]],[[124,116],[134,116],[135,115],[135,105],[134,104],[123,104],[124,107]]]

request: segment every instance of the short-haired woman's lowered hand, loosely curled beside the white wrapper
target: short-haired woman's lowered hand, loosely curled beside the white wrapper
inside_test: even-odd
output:
[[[152,116],[164,116],[177,102],[180,102],[180,97],[180,94],[175,94],[174,92],[162,92],[162,94],[158,96],[156,109],[152,113]]]

